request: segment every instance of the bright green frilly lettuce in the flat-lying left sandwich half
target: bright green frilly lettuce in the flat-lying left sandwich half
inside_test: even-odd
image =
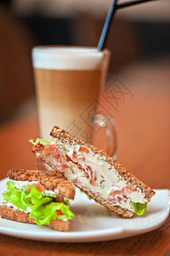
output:
[[[8,181],[7,190],[3,193],[3,197],[3,204],[12,201],[15,207],[24,211],[26,211],[26,207],[31,207],[29,217],[34,218],[38,225],[49,224],[55,218],[71,219],[75,217],[64,203],[56,202],[54,198],[42,195],[33,185],[16,189],[14,182]]]

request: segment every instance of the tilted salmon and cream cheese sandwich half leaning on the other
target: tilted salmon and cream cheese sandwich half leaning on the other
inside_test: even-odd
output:
[[[123,218],[146,212],[155,192],[105,151],[82,142],[55,126],[51,142],[37,139],[32,152],[56,172],[70,179],[94,201]]]

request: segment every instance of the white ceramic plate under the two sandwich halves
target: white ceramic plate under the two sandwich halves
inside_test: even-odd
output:
[[[7,178],[0,181],[0,203],[5,190]],[[37,224],[22,224],[0,218],[0,232],[8,236],[16,236],[40,241],[109,241],[128,236],[135,236],[155,230],[166,220],[169,214],[169,190],[156,189],[148,212],[142,217],[121,218],[115,213],[108,212],[105,207],[90,201],[87,195],[77,190],[75,201],[71,204],[71,211],[76,218],[71,220],[69,232],[51,230]]]

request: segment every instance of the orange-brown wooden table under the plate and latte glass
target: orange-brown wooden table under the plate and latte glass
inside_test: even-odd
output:
[[[147,68],[121,79],[133,94],[119,102],[119,112],[107,106],[119,132],[117,160],[154,189],[170,188],[170,89],[169,72],[147,76]],[[151,70],[151,69],[150,69]],[[128,76],[127,76],[128,74]],[[133,79],[132,79],[133,77]],[[140,78],[140,79],[139,79]],[[142,78],[142,79],[141,79]],[[120,77],[119,77],[120,79]],[[105,103],[106,104],[106,103]],[[9,167],[37,168],[30,138],[38,136],[36,111],[0,126],[0,178]],[[0,255],[167,255],[170,251],[170,218],[157,230],[116,241],[58,243],[29,241],[0,235]],[[169,254],[168,254],[169,255]]]

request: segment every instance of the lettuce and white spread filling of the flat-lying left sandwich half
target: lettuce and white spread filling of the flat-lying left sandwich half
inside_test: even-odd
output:
[[[9,180],[3,193],[3,206],[29,213],[29,218],[34,218],[38,225],[50,224],[51,220],[56,218],[74,218],[65,203],[55,201],[57,195],[57,190],[45,190],[37,181]]]

